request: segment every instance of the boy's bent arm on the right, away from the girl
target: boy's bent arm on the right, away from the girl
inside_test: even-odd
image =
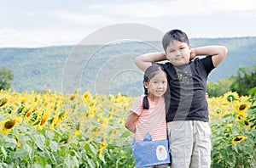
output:
[[[224,46],[206,46],[201,48],[192,48],[190,59],[194,59],[198,55],[212,55],[213,66],[220,64],[228,53],[228,49]]]

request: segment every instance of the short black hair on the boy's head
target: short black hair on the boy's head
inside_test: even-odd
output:
[[[162,45],[165,51],[170,42],[174,40],[177,40],[179,42],[186,42],[189,45],[189,38],[186,33],[178,29],[174,29],[171,31],[167,31],[166,34],[163,36]]]

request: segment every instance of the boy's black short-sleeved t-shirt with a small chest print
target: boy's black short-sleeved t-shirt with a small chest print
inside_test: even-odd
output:
[[[208,121],[207,76],[214,69],[212,56],[195,59],[183,66],[160,64],[167,74],[166,121]]]

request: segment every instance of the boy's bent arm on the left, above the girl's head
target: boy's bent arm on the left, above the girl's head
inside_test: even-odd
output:
[[[166,60],[165,53],[146,53],[135,58],[137,67],[145,71],[153,62]]]

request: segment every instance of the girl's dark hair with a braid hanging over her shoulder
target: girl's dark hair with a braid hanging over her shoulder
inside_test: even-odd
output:
[[[149,82],[158,73],[159,70],[165,71],[163,67],[161,67],[159,64],[152,64],[151,66],[149,66],[148,69],[145,70],[143,82]],[[145,97],[143,98],[143,109],[149,109],[148,88],[146,88],[145,86],[144,94]]]

